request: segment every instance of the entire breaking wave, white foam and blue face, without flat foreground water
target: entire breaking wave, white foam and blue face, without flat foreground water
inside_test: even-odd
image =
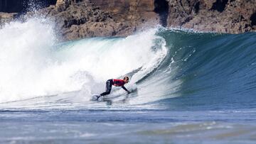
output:
[[[137,90],[127,98],[113,89],[118,106],[256,106],[255,33],[153,28],[126,38],[59,43],[51,23],[30,19],[4,26],[0,42],[1,103],[102,106],[90,103],[90,94],[103,92],[107,79],[129,75],[128,89]]]

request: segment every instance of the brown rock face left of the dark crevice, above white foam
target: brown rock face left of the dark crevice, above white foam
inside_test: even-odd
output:
[[[94,36],[126,36],[134,31],[156,26],[159,16],[154,13],[154,1],[58,0],[55,6],[40,9],[64,40]],[[117,9],[110,9],[117,8]],[[28,13],[26,16],[33,16]]]

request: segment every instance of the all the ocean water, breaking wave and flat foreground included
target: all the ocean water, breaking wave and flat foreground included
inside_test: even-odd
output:
[[[6,24],[0,43],[0,143],[256,142],[255,33],[60,42],[34,18]],[[90,100],[124,75],[132,94]]]

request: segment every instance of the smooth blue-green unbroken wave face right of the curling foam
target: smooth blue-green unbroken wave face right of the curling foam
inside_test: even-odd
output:
[[[255,33],[161,31],[158,35],[169,48],[159,68],[176,70],[168,79],[170,84],[181,82],[174,92],[180,97],[162,102],[178,109],[255,106]]]

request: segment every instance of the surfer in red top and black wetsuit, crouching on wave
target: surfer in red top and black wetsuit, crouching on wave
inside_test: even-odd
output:
[[[100,96],[105,96],[107,94],[110,94],[112,85],[115,87],[122,87],[128,94],[130,93],[127,88],[124,87],[124,84],[127,84],[129,82],[129,77],[125,76],[124,79],[108,79],[106,82],[106,92],[103,92],[100,94]],[[97,96],[97,99],[100,98],[100,96]]]

